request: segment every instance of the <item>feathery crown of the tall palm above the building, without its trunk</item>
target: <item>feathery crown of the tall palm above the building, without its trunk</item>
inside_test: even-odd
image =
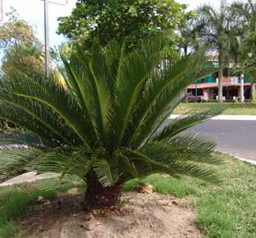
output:
[[[238,37],[242,33],[241,29],[238,31],[236,19],[232,19],[234,12],[230,4],[222,2],[220,9],[204,4],[196,12],[200,26],[198,32],[200,41],[206,44],[209,50],[218,53],[219,63],[228,65],[231,57],[233,59],[237,57]]]

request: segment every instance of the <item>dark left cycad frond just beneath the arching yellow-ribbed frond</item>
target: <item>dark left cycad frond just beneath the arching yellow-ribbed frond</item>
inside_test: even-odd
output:
[[[1,118],[33,131],[41,139],[48,141],[49,145],[78,143],[79,138],[49,108],[18,98],[16,101],[3,99],[2,96],[0,93]]]

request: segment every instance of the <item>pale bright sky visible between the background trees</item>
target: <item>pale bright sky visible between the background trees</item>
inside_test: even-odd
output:
[[[10,7],[14,7],[20,19],[25,19],[29,24],[33,25],[37,37],[44,41],[44,8],[43,0],[0,0],[3,2],[4,20],[6,20],[5,13],[10,11]],[[220,6],[221,0],[177,0],[177,3],[187,4],[188,9],[192,10],[201,4],[212,4],[215,7]],[[232,1],[232,0],[230,0]],[[69,16],[72,8],[75,6],[76,0],[49,0],[49,45],[51,47],[59,45],[64,41],[62,35],[56,34],[57,17]],[[57,4],[53,4],[57,3]],[[66,4],[67,2],[67,4]],[[64,4],[64,5],[60,5]]]

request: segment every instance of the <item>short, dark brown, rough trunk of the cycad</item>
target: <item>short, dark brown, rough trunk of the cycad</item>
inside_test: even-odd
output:
[[[109,208],[116,206],[121,198],[122,186],[102,187],[96,179],[87,179],[85,206],[88,211],[94,208]]]

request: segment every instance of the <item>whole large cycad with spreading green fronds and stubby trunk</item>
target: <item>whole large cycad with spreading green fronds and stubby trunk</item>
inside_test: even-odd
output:
[[[20,171],[77,175],[87,183],[87,208],[117,205],[122,184],[165,173],[210,182],[215,144],[178,135],[211,112],[162,127],[185,86],[206,76],[202,54],[163,57],[154,39],[125,53],[125,46],[95,45],[63,56],[64,85],[54,73],[16,59],[0,81],[0,116],[25,130],[1,138],[0,175]]]

